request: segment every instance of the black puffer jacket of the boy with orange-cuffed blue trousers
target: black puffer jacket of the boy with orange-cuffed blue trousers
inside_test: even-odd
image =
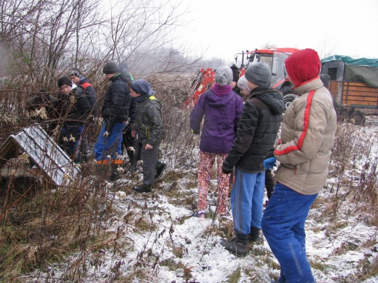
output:
[[[115,123],[122,123],[128,119],[131,102],[128,78],[118,73],[110,78],[110,82],[101,108],[101,116],[106,122],[107,131],[111,131]]]

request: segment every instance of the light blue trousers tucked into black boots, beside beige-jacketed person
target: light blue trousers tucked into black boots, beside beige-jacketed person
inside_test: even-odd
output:
[[[249,173],[235,168],[230,202],[236,233],[249,234],[251,226],[261,229],[264,185],[265,171]]]

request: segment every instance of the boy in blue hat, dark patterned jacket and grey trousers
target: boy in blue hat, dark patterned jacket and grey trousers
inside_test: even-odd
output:
[[[132,189],[137,193],[149,193],[154,179],[161,176],[166,166],[165,163],[158,161],[163,130],[161,103],[155,98],[155,91],[145,80],[132,82],[130,93],[136,101],[132,136],[136,138],[136,148],[141,150],[140,157],[143,161],[143,185],[133,186]]]

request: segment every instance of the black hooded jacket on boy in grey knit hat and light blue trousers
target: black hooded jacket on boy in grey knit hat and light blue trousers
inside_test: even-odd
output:
[[[281,92],[269,87],[254,88],[244,104],[236,138],[223,168],[234,166],[247,172],[264,171],[266,153],[273,148],[284,113]]]

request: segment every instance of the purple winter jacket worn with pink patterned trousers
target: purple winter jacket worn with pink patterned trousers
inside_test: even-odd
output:
[[[199,149],[228,153],[235,139],[242,110],[242,98],[229,85],[216,85],[203,93],[190,113],[190,128],[195,134],[199,134],[205,116]]]

